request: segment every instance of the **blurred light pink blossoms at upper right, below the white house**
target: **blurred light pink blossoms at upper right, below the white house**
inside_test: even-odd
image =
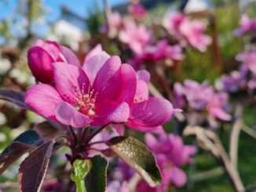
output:
[[[163,22],[168,33],[183,46],[191,45],[205,52],[210,45],[211,38],[203,34],[206,25],[200,20],[189,20],[188,16],[182,13],[172,13]]]

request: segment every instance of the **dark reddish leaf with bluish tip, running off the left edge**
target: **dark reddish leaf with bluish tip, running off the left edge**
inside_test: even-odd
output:
[[[13,143],[9,144],[0,154],[0,175],[23,154],[34,149],[40,143],[42,143],[42,140],[34,130],[28,130],[16,137]]]

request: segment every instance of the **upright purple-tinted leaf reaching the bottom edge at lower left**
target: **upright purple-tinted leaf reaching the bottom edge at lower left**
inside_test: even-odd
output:
[[[20,191],[40,191],[46,176],[49,158],[52,154],[54,140],[42,143],[21,163],[18,174]]]

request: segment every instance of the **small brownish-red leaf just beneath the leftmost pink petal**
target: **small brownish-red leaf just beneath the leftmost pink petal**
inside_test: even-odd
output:
[[[35,131],[44,138],[54,138],[60,132],[57,128],[55,128],[48,121],[44,121],[35,126]]]

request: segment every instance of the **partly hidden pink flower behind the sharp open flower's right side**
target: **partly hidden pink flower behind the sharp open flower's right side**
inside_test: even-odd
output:
[[[130,116],[126,126],[142,132],[163,133],[163,125],[175,112],[168,100],[148,96],[150,74],[147,71],[137,71],[137,90],[130,103]]]

